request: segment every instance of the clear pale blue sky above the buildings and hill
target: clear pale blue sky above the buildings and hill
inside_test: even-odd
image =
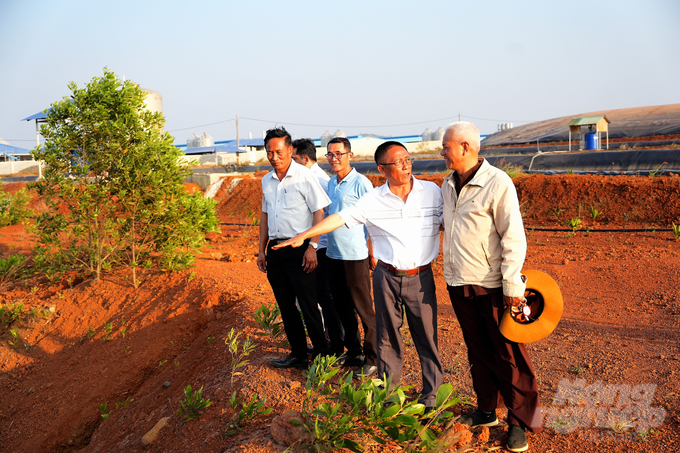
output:
[[[680,2],[0,0],[0,138],[106,66],[163,96],[175,143],[482,133],[680,103]],[[217,123],[217,124],[213,124]]]

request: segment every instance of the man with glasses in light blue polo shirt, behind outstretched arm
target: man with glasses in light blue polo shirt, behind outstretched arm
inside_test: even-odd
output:
[[[328,163],[336,175],[328,183],[331,204],[329,215],[354,205],[373,184],[364,175],[350,167],[353,157],[349,140],[336,137],[328,142]],[[328,233],[328,281],[333,304],[345,330],[344,346],[347,348],[346,366],[362,366],[361,373],[371,376],[378,371],[376,362],[376,321],[371,299],[367,246],[368,232],[364,226],[340,228]],[[357,313],[364,328],[364,345],[361,346]]]

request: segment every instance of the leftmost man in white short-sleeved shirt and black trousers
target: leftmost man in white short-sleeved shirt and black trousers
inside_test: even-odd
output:
[[[315,355],[329,353],[323,331],[321,313],[316,302],[314,269],[317,266],[318,236],[305,241],[299,249],[274,250],[283,242],[323,220],[323,208],[330,199],[317,177],[307,168],[293,162],[290,134],[284,128],[267,131],[264,139],[267,159],[274,168],[262,178],[262,217],[257,267],[267,273],[281,310],[283,327],[291,353],[272,360],[277,368],[306,368],[307,333]],[[295,305],[297,298],[304,324]]]

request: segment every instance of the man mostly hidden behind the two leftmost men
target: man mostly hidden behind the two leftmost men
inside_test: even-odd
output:
[[[316,162],[316,146],[308,138],[293,140],[293,161],[312,170],[312,173],[319,178],[319,184],[324,192],[328,194],[328,181],[331,179]],[[324,217],[328,217],[328,207],[325,207]],[[314,246],[314,244],[312,244]],[[331,297],[331,289],[328,281],[328,259],[326,251],[328,247],[328,237],[322,234],[319,237],[319,244],[316,249],[317,266],[314,274],[316,275],[316,298],[321,306],[323,323],[330,340],[331,352],[340,357],[344,352],[344,330],[340,317],[335,310],[335,305]]]

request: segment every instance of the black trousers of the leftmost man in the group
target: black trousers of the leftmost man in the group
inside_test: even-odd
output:
[[[321,312],[316,303],[316,282],[314,272],[302,268],[302,258],[307,250],[307,241],[302,247],[284,247],[272,250],[267,246],[267,280],[274,291],[276,303],[281,310],[283,328],[286,331],[291,353],[297,358],[307,358],[307,337],[312,340],[315,354],[328,354],[328,342],[324,335]],[[300,304],[303,320],[295,306]]]

